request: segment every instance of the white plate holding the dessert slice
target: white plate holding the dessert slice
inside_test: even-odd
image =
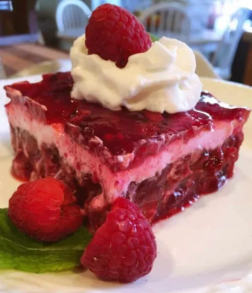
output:
[[[35,82],[39,76],[28,77]],[[19,79],[20,80],[20,79]],[[16,81],[16,80],[15,80]],[[252,108],[252,88],[202,79],[220,100]],[[0,81],[0,207],[19,185],[10,176],[12,150]],[[245,293],[252,290],[252,117],[232,180],[219,192],[154,227],[158,257],[152,272],[129,285],[99,281],[91,272],[32,274],[0,271],[2,292],[15,293]],[[238,280],[239,279],[239,280]],[[237,281],[234,281],[237,280]]]

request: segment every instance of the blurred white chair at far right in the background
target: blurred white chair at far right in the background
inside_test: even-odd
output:
[[[223,39],[214,53],[212,64],[215,66],[216,74],[222,79],[229,80],[231,76],[231,66],[243,34],[244,22],[249,18],[249,14],[250,10],[247,8],[240,8],[234,13]]]

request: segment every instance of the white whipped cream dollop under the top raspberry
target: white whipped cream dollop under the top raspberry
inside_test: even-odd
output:
[[[147,109],[176,113],[198,103],[202,84],[195,73],[193,51],[183,42],[162,37],[151,48],[130,56],[124,68],[96,54],[88,55],[85,35],[70,50],[72,97],[112,110]]]

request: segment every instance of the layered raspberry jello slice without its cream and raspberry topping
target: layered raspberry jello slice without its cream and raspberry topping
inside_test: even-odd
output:
[[[72,84],[70,73],[57,73],[5,86],[12,172],[65,181],[94,229],[118,196],[154,222],[232,177],[249,109],[203,92],[187,112],[112,111],[72,99]]]

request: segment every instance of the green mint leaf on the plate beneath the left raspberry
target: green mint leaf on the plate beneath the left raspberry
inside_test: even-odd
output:
[[[0,269],[38,273],[72,269],[80,264],[91,238],[81,227],[56,243],[37,242],[12,224],[7,209],[0,209]]]

